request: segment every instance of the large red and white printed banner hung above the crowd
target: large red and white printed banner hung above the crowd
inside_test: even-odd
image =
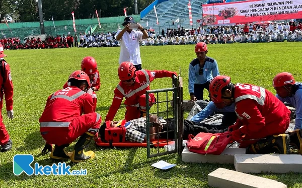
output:
[[[302,0],[250,0],[202,5],[204,25],[302,19]]]

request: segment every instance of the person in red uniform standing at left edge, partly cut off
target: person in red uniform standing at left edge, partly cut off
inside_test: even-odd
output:
[[[4,54],[4,48],[2,44],[0,44],[0,151],[5,152],[12,149],[13,141],[10,139],[10,135],[5,128],[2,117],[2,107],[3,107],[3,99],[5,97],[7,115],[9,119],[13,119],[14,110],[13,110],[13,94],[14,94],[14,86],[12,82],[11,76],[11,68],[10,65],[3,59],[6,55]]]

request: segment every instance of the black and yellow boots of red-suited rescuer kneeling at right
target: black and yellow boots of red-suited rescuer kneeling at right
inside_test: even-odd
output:
[[[246,148],[247,154],[288,154],[290,138],[287,134],[268,136]]]

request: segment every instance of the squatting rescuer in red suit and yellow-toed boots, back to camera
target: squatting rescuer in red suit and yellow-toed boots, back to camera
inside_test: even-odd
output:
[[[91,95],[85,92],[90,88],[89,76],[83,71],[75,71],[68,82],[69,87],[48,97],[39,119],[40,132],[46,140],[42,153],[52,150],[51,144],[55,144],[51,158],[70,158],[72,162],[80,162],[95,157],[93,151],[85,152],[84,149],[98,132],[102,119],[100,114],[94,112]],[[78,137],[73,152],[67,153],[65,147]]]

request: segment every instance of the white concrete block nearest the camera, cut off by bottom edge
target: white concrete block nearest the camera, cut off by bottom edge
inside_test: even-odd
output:
[[[276,180],[218,168],[208,174],[208,184],[217,188],[287,188]]]

